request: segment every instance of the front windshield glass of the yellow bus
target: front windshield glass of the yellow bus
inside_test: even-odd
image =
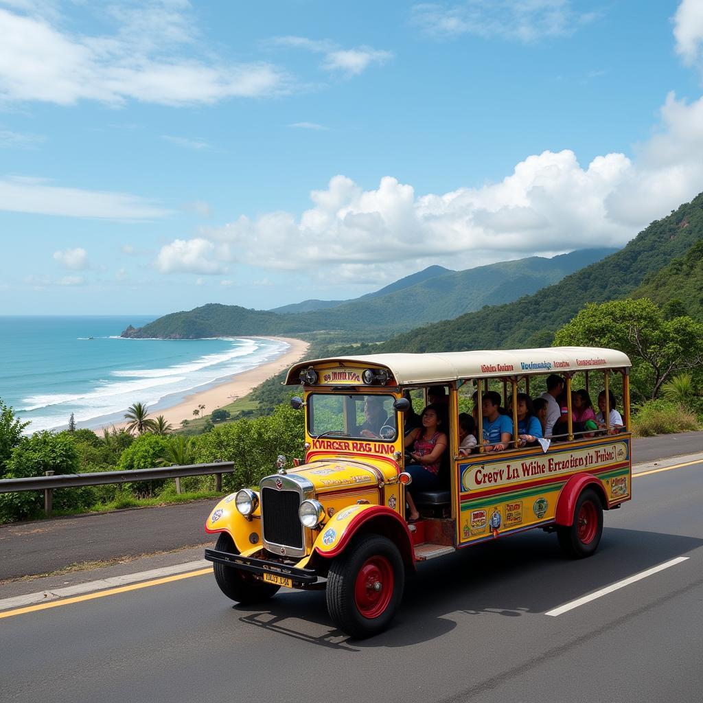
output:
[[[312,437],[367,437],[393,441],[398,436],[394,396],[313,393],[308,396]]]

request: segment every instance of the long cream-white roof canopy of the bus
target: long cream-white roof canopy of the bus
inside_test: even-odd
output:
[[[467,378],[496,378],[525,373],[565,373],[565,371],[626,368],[630,359],[623,352],[600,347],[548,347],[545,349],[498,349],[438,354],[368,354],[333,356],[295,364],[285,379],[297,385],[300,370],[321,364],[344,367],[387,368],[399,385],[439,384]],[[361,384],[359,384],[361,385]]]

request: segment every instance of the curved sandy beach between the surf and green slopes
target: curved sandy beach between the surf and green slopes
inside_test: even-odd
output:
[[[266,337],[266,339],[286,342],[290,344],[290,349],[275,361],[264,363],[262,366],[257,366],[257,368],[252,368],[249,371],[237,373],[212,388],[191,393],[177,405],[170,408],[150,410],[149,416],[155,418],[157,415],[163,415],[167,423],[170,423],[173,427],[180,427],[182,420],[193,420],[193,410],[198,408],[199,405],[204,405],[205,410],[202,412],[205,415],[209,415],[217,408],[229,405],[233,401],[247,395],[267,378],[271,378],[271,376],[275,376],[280,371],[292,366],[302,358],[310,346],[308,342],[295,340],[292,337]],[[119,428],[126,426],[127,423],[109,423],[107,426],[112,427],[113,425]],[[101,432],[101,430],[96,430],[96,432]]]

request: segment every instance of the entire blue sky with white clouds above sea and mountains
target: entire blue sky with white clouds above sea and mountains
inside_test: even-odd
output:
[[[356,297],[703,191],[701,0],[0,0],[0,36],[2,314]]]

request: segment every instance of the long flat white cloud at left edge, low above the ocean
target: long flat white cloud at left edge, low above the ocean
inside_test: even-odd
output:
[[[145,220],[165,217],[168,210],[130,193],[84,191],[51,186],[44,179],[6,176],[0,179],[0,211],[66,217]]]

